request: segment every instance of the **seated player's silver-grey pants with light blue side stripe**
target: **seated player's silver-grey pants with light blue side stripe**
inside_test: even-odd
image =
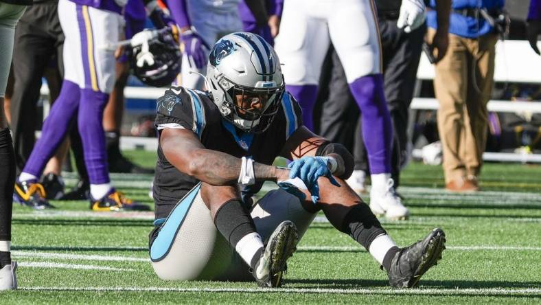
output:
[[[292,221],[299,239],[316,213],[278,189],[253,207],[251,216],[264,242],[282,221]],[[200,184],[176,204],[150,246],[154,272],[162,280],[253,280],[249,267],[220,234],[200,196]]]

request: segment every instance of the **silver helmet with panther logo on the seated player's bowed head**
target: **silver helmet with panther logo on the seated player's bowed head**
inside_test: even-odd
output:
[[[248,32],[228,34],[212,47],[207,87],[222,116],[242,131],[266,131],[279,109],[284,77],[278,56],[264,39]],[[235,104],[235,95],[257,95],[263,107],[248,110]]]

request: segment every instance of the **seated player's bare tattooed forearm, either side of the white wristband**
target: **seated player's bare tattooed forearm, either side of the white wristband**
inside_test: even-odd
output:
[[[242,160],[216,150],[198,149],[189,161],[186,174],[211,185],[232,185],[238,183]],[[258,181],[287,179],[288,170],[253,163],[253,173]]]

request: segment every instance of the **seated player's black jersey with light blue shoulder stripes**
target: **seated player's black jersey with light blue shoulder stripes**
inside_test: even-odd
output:
[[[228,153],[235,157],[251,157],[254,161],[272,164],[287,139],[302,125],[301,108],[297,101],[284,93],[281,109],[264,133],[242,133],[222,118],[218,106],[207,93],[183,87],[165,91],[157,101],[154,124],[182,126],[193,131],[205,148]],[[166,125],[167,126],[167,125]],[[154,176],[153,196],[156,218],[167,217],[174,205],[198,183],[180,172],[163,155],[158,146],[158,161]],[[257,192],[259,188],[252,188]]]

